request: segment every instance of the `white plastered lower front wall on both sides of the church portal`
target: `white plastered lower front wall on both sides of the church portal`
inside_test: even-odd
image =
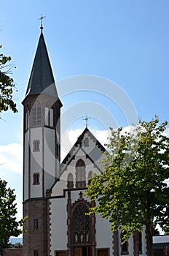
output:
[[[79,199],[79,192],[71,191],[71,203]],[[84,191],[82,191],[84,192]],[[84,197],[84,200],[88,200]],[[55,256],[55,250],[67,250],[67,192],[66,197],[50,199],[50,244],[51,256]],[[109,222],[96,215],[96,249],[109,249],[112,255],[112,233]]]

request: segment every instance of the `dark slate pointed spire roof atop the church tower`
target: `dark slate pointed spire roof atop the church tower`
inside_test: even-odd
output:
[[[53,97],[58,97],[43,33],[41,33],[39,37],[38,47],[31,70],[31,76],[28,82],[26,96],[41,93],[49,94]]]

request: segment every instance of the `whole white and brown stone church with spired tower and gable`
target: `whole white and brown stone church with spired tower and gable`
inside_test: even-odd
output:
[[[84,197],[92,172],[101,173],[106,150],[87,127],[60,162],[60,109],[63,102],[41,27],[34,64],[23,99],[23,256],[146,255],[146,233],[120,243],[120,231]],[[96,202],[97,203],[97,202]]]

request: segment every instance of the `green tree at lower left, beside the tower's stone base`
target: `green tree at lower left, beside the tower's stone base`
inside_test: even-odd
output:
[[[7,244],[10,236],[23,233],[25,219],[16,220],[17,204],[14,189],[7,188],[7,181],[0,179],[0,244]]]

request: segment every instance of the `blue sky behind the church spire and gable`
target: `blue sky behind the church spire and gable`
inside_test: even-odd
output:
[[[1,4],[0,44],[3,45],[2,52],[12,56],[12,64],[17,67],[12,77],[18,90],[15,99],[19,113],[9,111],[1,115],[4,121],[1,121],[3,165],[0,166],[0,176],[16,189],[19,202],[22,201],[21,102],[39,39],[41,13],[46,16],[44,38],[56,81],[68,81],[67,78],[79,75],[105,78],[128,96],[141,119],[149,121],[157,115],[161,121],[169,120],[168,0],[4,1]],[[58,82],[58,88],[62,84]],[[58,94],[60,91],[58,89]],[[61,99],[63,117],[68,110],[79,109],[79,106],[82,116],[72,117],[62,129],[84,129],[82,117],[87,114],[90,116],[89,128],[103,131],[108,127],[104,113],[113,116],[112,123],[116,126],[127,126],[125,107],[120,108],[123,97],[118,105],[111,100],[113,93],[109,99],[109,89],[105,94],[99,94],[96,89],[91,92],[90,85],[88,90],[77,90],[72,94],[70,86],[68,92]],[[98,112],[100,108],[106,112],[98,118],[90,109],[85,109],[85,102],[95,103]],[[109,121],[111,124],[111,118]],[[72,137],[76,138],[76,133]]]

